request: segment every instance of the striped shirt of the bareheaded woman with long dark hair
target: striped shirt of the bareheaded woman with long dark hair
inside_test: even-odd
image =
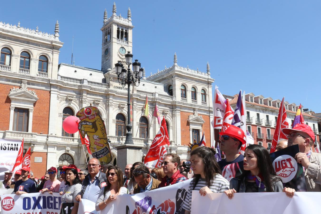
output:
[[[189,184],[187,196],[183,204],[183,208],[188,211],[192,210],[192,191],[194,186],[194,179]],[[204,186],[207,186],[206,180],[204,178],[200,178],[194,190],[200,190]],[[230,183],[222,175],[216,174],[214,177],[214,182],[209,188],[213,193],[223,193],[225,190],[228,190],[230,188]]]

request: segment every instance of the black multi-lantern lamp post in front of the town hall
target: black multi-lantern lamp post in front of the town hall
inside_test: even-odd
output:
[[[116,74],[119,84],[121,84],[123,87],[127,85],[127,133],[126,133],[126,140],[125,144],[134,144],[133,137],[132,137],[132,124],[130,123],[130,84],[133,83],[133,87],[139,86],[140,80],[142,78],[143,69],[141,68],[141,64],[138,62],[137,59],[135,59],[135,62],[133,63],[133,71],[130,70],[130,65],[132,64],[133,55],[130,53],[130,51],[125,54],[127,69],[124,68],[124,65],[121,63],[121,61],[118,61],[118,63],[115,64],[116,67]]]

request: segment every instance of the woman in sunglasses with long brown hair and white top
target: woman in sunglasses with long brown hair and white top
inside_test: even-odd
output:
[[[104,209],[107,204],[112,203],[117,195],[128,194],[129,191],[123,186],[123,171],[120,167],[110,167],[107,171],[107,185],[101,188],[96,201],[96,211]]]

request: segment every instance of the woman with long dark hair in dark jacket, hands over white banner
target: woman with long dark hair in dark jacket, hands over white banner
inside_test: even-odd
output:
[[[233,198],[234,193],[282,192],[283,185],[275,173],[269,152],[260,145],[252,144],[245,149],[243,159],[244,172],[238,178],[232,178],[230,189],[224,191]],[[294,189],[284,188],[287,196]],[[293,192],[294,194],[294,192]]]

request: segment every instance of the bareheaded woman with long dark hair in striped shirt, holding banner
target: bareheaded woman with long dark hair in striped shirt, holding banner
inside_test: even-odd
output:
[[[194,177],[188,187],[183,204],[185,214],[191,212],[192,191],[199,190],[205,196],[207,193],[223,193],[229,189],[229,182],[221,175],[221,169],[214,157],[215,150],[202,146],[191,151],[190,162]]]

